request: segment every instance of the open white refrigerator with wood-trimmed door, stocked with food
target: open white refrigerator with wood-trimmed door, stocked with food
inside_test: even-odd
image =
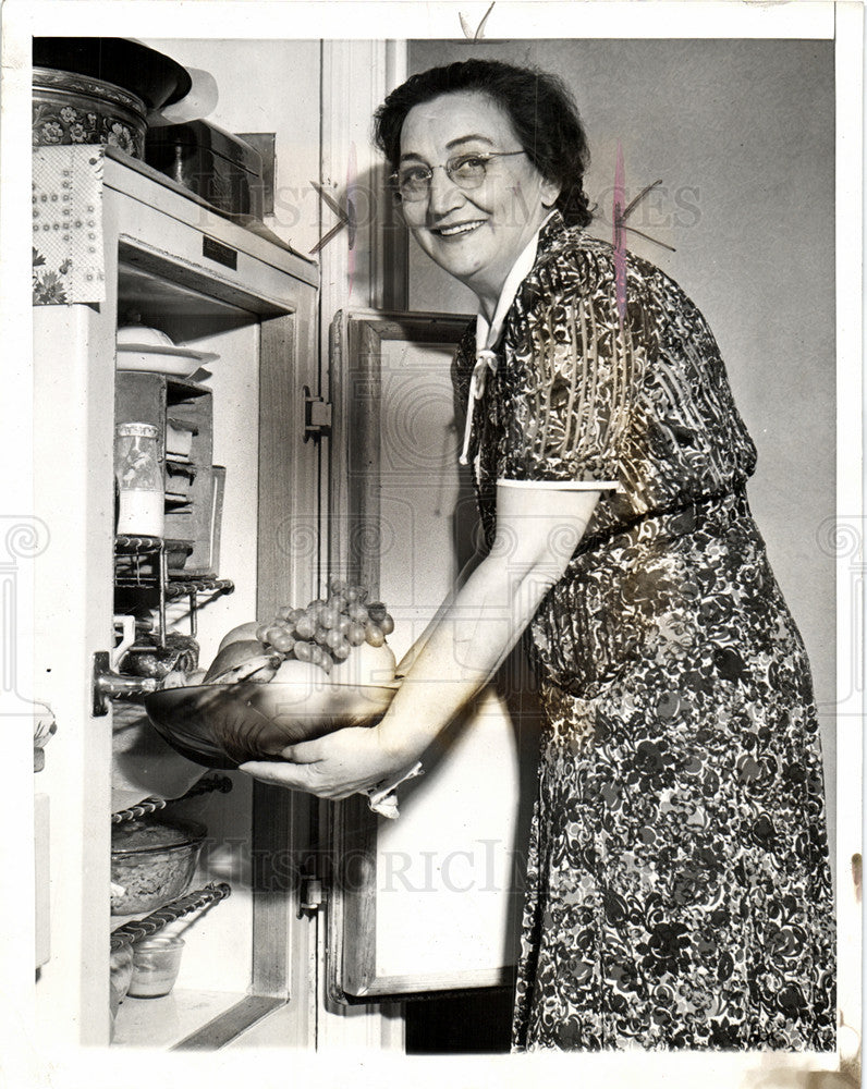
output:
[[[342,308],[320,351],[315,261],[111,148],[37,151],[46,222],[72,178],[93,279],[66,276],[53,232],[34,252],[53,292],[33,310],[35,675],[53,724],[34,772],[37,1023],[59,1047],[400,1051],[406,1003],[483,1008],[510,987],[535,741],[520,663],[512,710],[486,692],[396,819],[202,766],[144,700],[179,652],[206,668],[231,628],[334,575],[386,601],[398,658],[408,648],[473,543],[449,392],[468,319]],[[119,328],[161,334],[164,366]],[[156,535],[120,521],[119,436],[142,425]],[[204,845],[183,893],[143,908],[117,837],[159,819],[202,825]],[[176,981],[136,996],[124,950],[160,933],[183,940]]]

